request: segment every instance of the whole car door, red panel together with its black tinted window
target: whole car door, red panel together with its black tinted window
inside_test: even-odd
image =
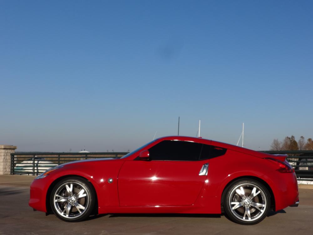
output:
[[[164,140],[149,149],[150,160],[125,161],[118,176],[120,206],[192,205],[207,178],[202,145]]]

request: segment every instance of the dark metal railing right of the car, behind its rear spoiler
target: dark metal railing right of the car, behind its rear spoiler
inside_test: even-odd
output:
[[[287,154],[287,161],[295,169],[300,181],[313,181],[313,150],[262,151],[267,154]]]

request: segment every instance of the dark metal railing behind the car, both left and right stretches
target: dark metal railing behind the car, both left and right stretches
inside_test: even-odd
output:
[[[287,154],[287,161],[295,169],[298,180],[313,181],[313,150],[261,151],[268,154]],[[45,170],[62,163],[99,158],[121,158],[125,152],[104,153],[13,153],[11,175],[40,175]]]

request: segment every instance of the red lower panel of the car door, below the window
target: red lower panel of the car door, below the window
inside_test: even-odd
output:
[[[120,206],[191,206],[207,178],[194,174],[203,161],[126,161],[118,178]]]

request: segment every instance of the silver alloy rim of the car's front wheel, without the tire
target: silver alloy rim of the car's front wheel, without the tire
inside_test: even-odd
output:
[[[55,191],[53,201],[54,208],[60,216],[73,219],[85,213],[90,195],[80,183],[66,182]]]

